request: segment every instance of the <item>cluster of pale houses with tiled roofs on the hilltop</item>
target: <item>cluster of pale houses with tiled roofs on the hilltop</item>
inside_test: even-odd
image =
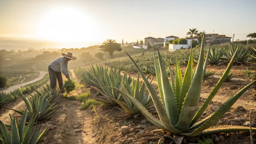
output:
[[[219,34],[205,34],[205,45],[211,44],[221,44],[221,43],[227,43],[231,42],[232,37],[228,37],[226,35],[219,35]],[[179,39],[179,40],[178,40]],[[156,46],[156,45],[162,45],[164,48],[169,48],[169,51],[175,51],[177,49],[181,48],[190,48],[191,47],[191,41],[192,43],[198,44],[200,39],[197,37],[186,37],[186,38],[179,38],[178,36],[166,36],[165,38],[155,38],[155,37],[146,37],[143,45],[138,45],[138,43],[131,43],[134,48],[144,48],[147,49],[148,47]],[[174,42],[175,40],[180,41],[181,43]],[[172,42],[173,41],[173,42]],[[183,41],[183,42],[182,42]],[[192,44],[193,45],[193,44]]]

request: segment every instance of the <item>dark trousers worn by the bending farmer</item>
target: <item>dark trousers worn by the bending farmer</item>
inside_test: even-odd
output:
[[[56,87],[56,84],[57,84],[56,78],[57,78],[58,83],[59,83],[59,88],[61,89],[62,85],[63,85],[61,72],[53,71],[50,66],[48,66],[48,72],[49,72],[49,77],[50,77],[50,87],[52,89],[54,89]]]

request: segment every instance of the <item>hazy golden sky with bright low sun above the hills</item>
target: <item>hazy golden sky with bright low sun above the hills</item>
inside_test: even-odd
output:
[[[256,32],[256,0],[0,0],[0,37],[59,43]],[[75,47],[75,46],[74,46]]]

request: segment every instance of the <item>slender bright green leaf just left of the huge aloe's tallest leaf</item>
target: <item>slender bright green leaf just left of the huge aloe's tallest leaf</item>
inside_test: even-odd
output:
[[[190,87],[191,81],[192,81],[192,74],[193,74],[193,56],[192,56],[192,47],[190,48],[190,56],[188,60],[188,65],[186,72],[184,74],[182,88],[181,88],[181,95],[179,100],[179,112],[181,112],[181,109],[183,107],[184,98],[186,97],[186,94],[188,92],[188,89]]]

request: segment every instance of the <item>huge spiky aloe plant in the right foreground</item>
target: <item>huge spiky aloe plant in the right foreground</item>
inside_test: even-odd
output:
[[[192,51],[192,50],[191,50]],[[236,50],[237,51],[237,50]],[[233,103],[256,81],[246,85],[242,90],[237,94],[232,96],[229,100],[226,101],[216,112],[211,114],[206,119],[198,121],[200,116],[206,110],[208,104],[211,102],[212,98],[216,95],[219,90],[220,85],[223,83],[225,78],[228,75],[229,70],[232,67],[232,62],[235,57],[234,55],[222,75],[219,79],[219,82],[215,85],[212,92],[209,94],[201,108],[198,109],[200,93],[201,93],[201,84],[203,81],[203,76],[206,71],[207,60],[204,63],[204,46],[203,40],[201,44],[201,50],[199,55],[198,64],[195,70],[195,75],[192,78],[193,67],[192,67],[192,52],[190,53],[189,62],[187,65],[186,72],[184,77],[178,71],[179,66],[176,67],[176,80],[171,76],[171,83],[167,76],[165,69],[165,62],[163,61],[159,51],[157,52],[158,60],[155,55],[155,69],[156,77],[158,81],[158,90],[160,94],[160,99],[157,93],[154,91],[152,85],[146,79],[146,76],[138,67],[136,62],[131,58],[134,65],[138,69],[138,72],[143,78],[143,81],[146,84],[147,90],[149,91],[151,98],[153,100],[154,106],[158,112],[159,119],[155,118],[150,114],[143,105],[138,102],[134,97],[128,96],[128,98],[134,103],[134,105],[142,112],[142,114],[149,120],[151,123],[156,125],[158,128],[169,131],[173,134],[184,135],[184,136],[196,136],[199,134],[209,134],[217,132],[231,132],[231,131],[249,131],[249,127],[243,126],[219,126],[212,127],[219,119],[228,111]],[[207,57],[209,55],[209,49],[207,52]],[[168,67],[171,71],[170,66]],[[171,72],[170,72],[171,73]],[[197,110],[198,109],[198,110]],[[256,128],[253,128],[256,130]]]

